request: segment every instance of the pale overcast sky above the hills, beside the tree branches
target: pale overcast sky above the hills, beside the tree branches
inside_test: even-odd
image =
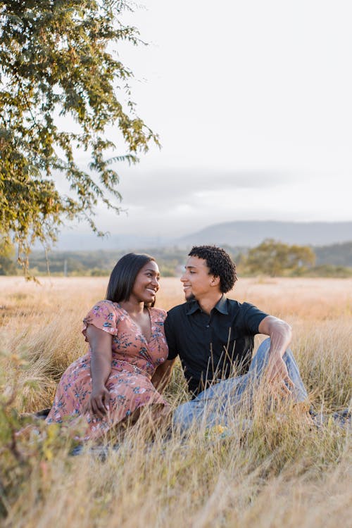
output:
[[[128,215],[101,211],[99,227],[352,220],[351,0],[144,5],[125,21],[150,45],[119,53],[162,149],[116,166]]]

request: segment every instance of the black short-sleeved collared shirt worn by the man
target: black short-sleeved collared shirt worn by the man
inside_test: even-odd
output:
[[[267,317],[256,306],[224,295],[211,310],[203,312],[197,301],[175,306],[165,320],[168,359],[180,356],[189,391],[194,395],[217,379],[249,369],[255,334]]]

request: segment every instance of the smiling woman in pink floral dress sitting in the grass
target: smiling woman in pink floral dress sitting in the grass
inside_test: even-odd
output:
[[[120,258],[106,299],[84,318],[89,351],[63,374],[46,422],[84,416],[83,438],[98,439],[145,406],[153,406],[155,419],[169,413],[160,394],[168,370],[166,312],[153,308],[159,279],[151,256]]]

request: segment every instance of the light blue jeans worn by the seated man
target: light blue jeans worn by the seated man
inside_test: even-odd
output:
[[[177,429],[185,432],[191,425],[213,427],[215,425],[228,425],[227,413],[233,414],[236,408],[251,404],[253,390],[258,386],[260,377],[263,375],[265,366],[268,364],[270,339],[265,339],[260,344],[256,355],[251,361],[249,371],[238,377],[225,379],[214,384],[209,389],[199,393],[194,400],[187,401],[178,406],[172,417]],[[301,375],[298,370],[294,355],[289,348],[284,353],[283,360],[286,363],[289,377],[294,386],[292,398],[295,402],[305,401],[308,397]]]

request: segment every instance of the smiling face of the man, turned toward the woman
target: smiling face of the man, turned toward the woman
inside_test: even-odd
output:
[[[189,257],[186,263],[186,270],[181,277],[184,296],[187,301],[192,298],[197,300],[203,298],[210,291],[213,291],[213,275],[209,275],[209,268],[206,260],[198,257]]]

